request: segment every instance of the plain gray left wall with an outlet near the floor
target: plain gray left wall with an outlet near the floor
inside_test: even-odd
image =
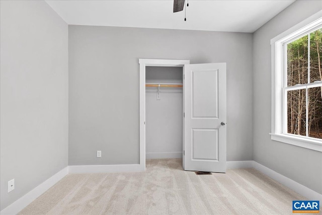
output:
[[[68,164],[68,26],[43,1],[0,4],[2,210]]]

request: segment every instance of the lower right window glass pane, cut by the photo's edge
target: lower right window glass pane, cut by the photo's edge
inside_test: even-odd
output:
[[[322,139],[322,87],[308,89],[308,136]]]

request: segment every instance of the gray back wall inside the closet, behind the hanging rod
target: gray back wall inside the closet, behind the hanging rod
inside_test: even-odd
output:
[[[147,66],[146,83],[182,83],[183,67]],[[183,88],[145,88],[146,158],[182,158]]]

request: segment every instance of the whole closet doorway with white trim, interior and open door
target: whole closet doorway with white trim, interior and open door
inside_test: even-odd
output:
[[[146,158],[182,156],[184,170],[225,172],[226,63],[139,59],[139,65],[141,169]]]

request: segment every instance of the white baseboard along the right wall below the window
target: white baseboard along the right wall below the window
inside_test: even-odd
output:
[[[301,194],[302,196],[306,197],[308,200],[319,200],[320,203],[322,202],[322,194],[315,192],[314,190],[311,190],[310,188],[300,183],[297,183],[296,181],[293,181],[292,179],[285,177],[284,175],[278,172],[275,172],[274,170],[267,168],[266,166],[263,166],[262,164],[259,164],[256,161],[253,161],[253,168],[264,173],[268,177],[280,182],[284,186],[287,186],[288,188],[294,190],[298,194]]]

